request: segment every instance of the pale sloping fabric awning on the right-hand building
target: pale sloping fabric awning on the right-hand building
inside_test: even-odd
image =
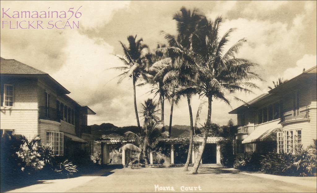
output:
[[[259,128],[253,131],[242,143],[256,143],[260,141],[273,141],[276,140],[276,133],[281,129],[281,126],[273,126],[267,128]]]

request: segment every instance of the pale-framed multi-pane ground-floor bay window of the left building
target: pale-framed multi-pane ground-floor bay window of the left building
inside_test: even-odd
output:
[[[55,155],[63,155],[64,147],[64,133],[47,131],[46,132],[46,143],[53,146]]]

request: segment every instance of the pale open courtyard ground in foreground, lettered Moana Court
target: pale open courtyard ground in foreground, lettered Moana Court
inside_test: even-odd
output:
[[[10,192],[317,191],[316,177],[283,177],[257,172],[241,172],[219,165],[202,165],[198,172],[197,175],[191,175],[183,171],[183,168],[103,168],[94,174],[70,179],[40,181],[39,184]],[[164,191],[164,189],[170,190]]]

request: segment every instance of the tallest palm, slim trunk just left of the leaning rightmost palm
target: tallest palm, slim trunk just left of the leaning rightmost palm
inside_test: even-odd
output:
[[[174,37],[171,34],[164,33],[165,39],[168,41],[170,47],[161,49],[161,51],[168,54],[171,59],[171,65],[173,66],[172,70],[166,74],[166,83],[172,84],[174,87],[177,86],[180,90],[175,94],[177,96],[185,96],[188,103],[191,131],[189,151],[184,167],[185,170],[187,170],[191,158],[194,133],[191,96],[197,93],[197,90],[191,87],[193,84],[192,79],[194,79],[196,72],[195,66],[193,65],[194,59],[191,48],[191,37],[201,17],[202,15],[198,13],[198,10],[194,9],[191,11],[182,7],[180,12],[176,13],[173,17],[173,19],[176,20],[178,35]]]

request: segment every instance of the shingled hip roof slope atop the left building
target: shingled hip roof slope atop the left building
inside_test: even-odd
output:
[[[23,64],[15,59],[1,58],[0,61],[1,74],[47,74],[46,72],[37,70],[36,68]]]

